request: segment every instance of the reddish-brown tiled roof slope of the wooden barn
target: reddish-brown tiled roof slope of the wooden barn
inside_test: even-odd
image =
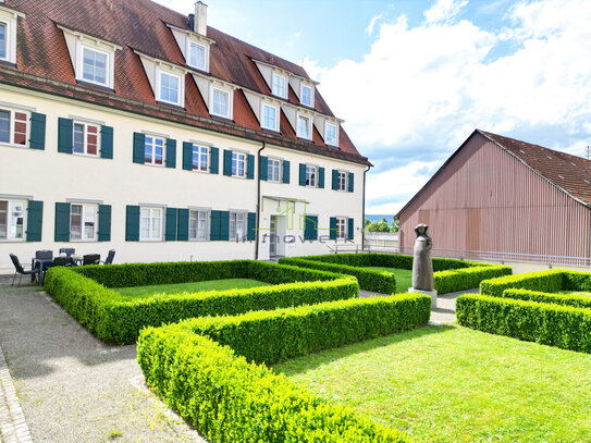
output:
[[[591,206],[591,160],[477,130],[571,197]]]

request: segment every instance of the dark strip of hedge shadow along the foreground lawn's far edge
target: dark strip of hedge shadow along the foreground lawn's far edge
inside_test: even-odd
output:
[[[371,339],[365,342],[357,342],[336,348],[319,350],[318,353],[308,354],[303,357],[296,357],[287,361],[274,365],[273,370],[287,377],[292,377],[316,369],[323,365],[329,365],[333,361],[349,357],[355,354],[366,353],[368,350],[377,349],[379,347],[390,346],[394,343],[401,343],[407,340],[416,340],[431,334],[440,334],[455,329],[456,327],[452,325],[419,327],[414,330],[401,332],[393,335]]]

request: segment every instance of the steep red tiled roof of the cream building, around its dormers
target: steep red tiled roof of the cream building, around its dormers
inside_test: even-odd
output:
[[[190,74],[186,75],[185,82],[186,112],[158,104],[134,50],[186,66],[168,25],[189,30],[188,17],[165,7],[150,0],[5,0],[2,5],[26,14],[25,19],[19,19],[17,66],[16,69],[0,66],[2,83],[370,164],[367,158],[357,151],[343,128],[338,149],[327,147],[316,131],[313,143],[299,140],[283,114],[280,125],[281,136],[269,135],[260,127],[242,91],[235,93],[234,96],[234,124],[212,119]],[[58,25],[122,47],[122,50],[115,52],[115,94],[77,85],[65,39]],[[210,73],[216,78],[262,95],[271,95],[254,60],[309,78],[301,66],[218,29],[208,27],[208,37],[216,41],[210,49]],[[297,103],[297,97],[291,89],[288,101]],[[315,93],[315,102],[317,112],[334,116],[318,90]]]

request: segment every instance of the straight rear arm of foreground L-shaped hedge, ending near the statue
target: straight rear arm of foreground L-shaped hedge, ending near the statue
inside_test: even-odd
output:
[[[237,317],[199,318],[184,324],[230,346],[249,361],[275,364],[320,349],[407,331],[426,324],[430,315],[429,296],[402,294]]]

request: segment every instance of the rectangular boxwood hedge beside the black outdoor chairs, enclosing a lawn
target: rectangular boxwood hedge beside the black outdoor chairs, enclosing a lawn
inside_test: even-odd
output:
[[[143,298],[109,288],[231,278],[276,285]],[[135,343],[139,331],[149,325],[355,298],[359,293],[353,276],[251,260],[56,267],[48,271],[45,287],[91,333],[116,343]]]

